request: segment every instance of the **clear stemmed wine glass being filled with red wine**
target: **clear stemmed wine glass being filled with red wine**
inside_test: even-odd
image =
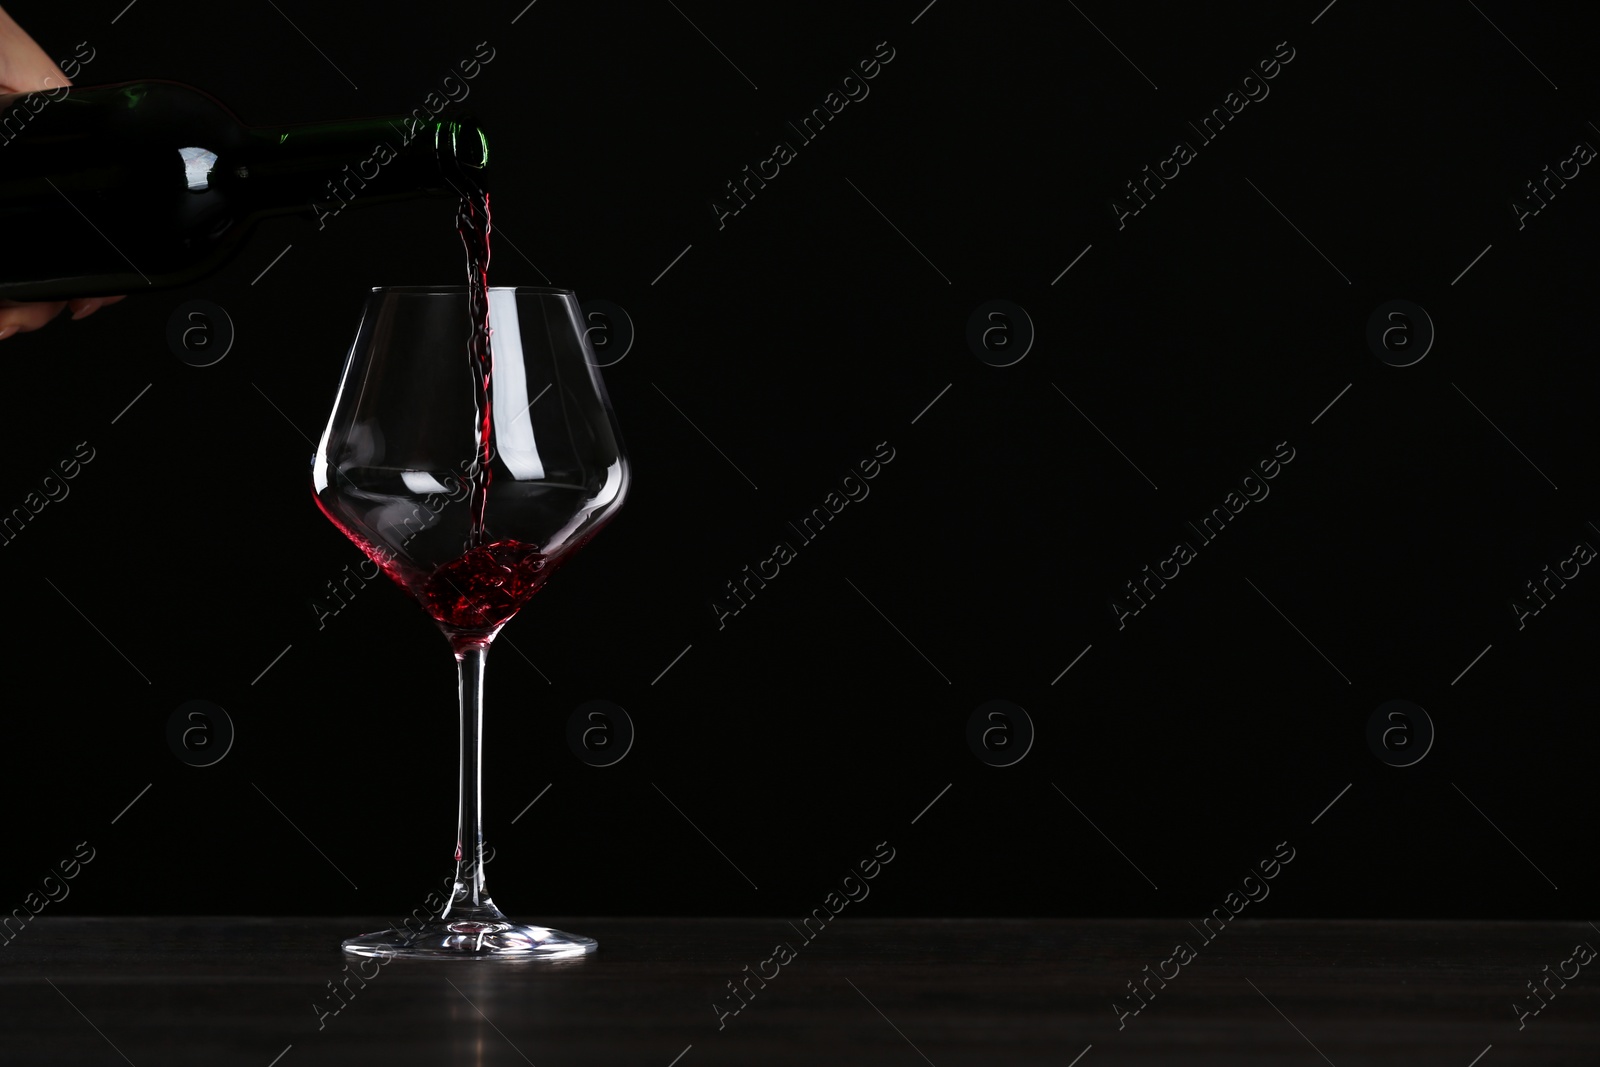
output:
[[[467,286],[374,288],[312,458],[317,506],[434,617],[461,689],[450,901],[426,923],[346,941],[355,955],[595,950],[514,923],[485,888],[483,667],[501,627],[616,514],[629,466],[573,293],[490,286],[488,326],[491,363],[469,352],[482,326]]]

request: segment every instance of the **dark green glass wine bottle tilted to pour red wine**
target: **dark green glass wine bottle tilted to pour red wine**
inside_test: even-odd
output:
[[[187,285],[262,218],[483,186],[469,118],[246,126],[176,82],[0,94],[0,298]]]

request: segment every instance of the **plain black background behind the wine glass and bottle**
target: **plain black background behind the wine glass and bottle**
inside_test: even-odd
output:
[[[885,840],[856,913],[1197,915],[1286,840],[1264,913],[1586,917],[1600,577],[1509,606],[1600,544],[1600,178],[1510,208],[1600,144],[1579,6],[278,6],[11,14],[93,45],[80,85],[259,125],[408,112],[494,48],[493,282],[637,326],[605,371],[634,491],[491,657],[515,917],[797,915]],[[870,96],[718,229],[878,42]],[[1118,230],[1123,182],[1278,42],[1270,96]],[[318,629],[360,555],[307,474],[365,290],[459,275],[448,202],[277,219],[205,283],[0,346],[0,507],[96,450],[0,557],[0,907],[83,840],[80,913],[394,913],[448,873],[446,645],[387,584]],[[237,328],[210,368],[165,339],[195,298]],[[994,298],[1037,326],[1013,366],[965,341]],[[1413,366],[1366,346],[1390,299],[1437,326]],[[718,630],[723,582],[880,442],[870,496]],[[1120,585],[1278,442],[1270,496],[1118,630]],[[637,726],[610,768],[565,741],[597,697]],[[166,745],[189,699],[237,726],[214,766]],[[990,699],[1037,726],[1014,766],[966,747]],[[1437,728],[1414,766],[1366,745],[1389,699]]]

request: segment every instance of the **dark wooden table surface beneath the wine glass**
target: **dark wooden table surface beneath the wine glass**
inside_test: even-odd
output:
[[[1589,923],[1235,920],[1206,944],[1182,920],[842,918],[806,944],[784,920],[549,921],[600,950],[397,960],[320,1016],[339,941],[382,921],[40,917],[0,947],[0,1064],[1600,1062],[1600,961],[1514,1009],[1600,945]],[[718,1029],[779,941],[795,958]],[[1195,957],[1118,1027],[1176,942]]]

